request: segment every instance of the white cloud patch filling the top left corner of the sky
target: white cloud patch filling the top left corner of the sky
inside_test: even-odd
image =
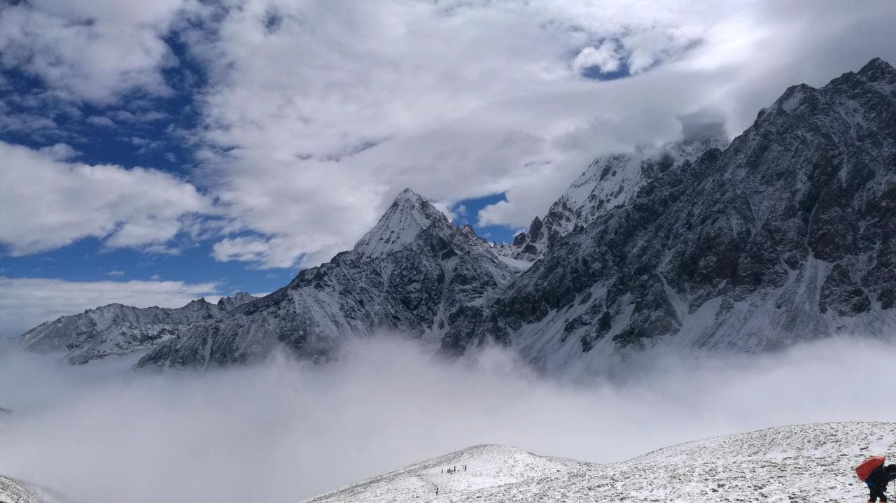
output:
[[[36,75],[73,99],[108,103],[128,90],[167,94],[160,70],[175,61],[161,37],[182,4],[35,0],[0,6],[0,66]]]

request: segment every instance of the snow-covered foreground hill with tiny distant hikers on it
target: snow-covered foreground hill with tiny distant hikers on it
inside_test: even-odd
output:
[[[307,503],[866,501],[855,466],[867,456],[892,454],[894,447],[892,422],[784,426],[688,442],[608,465],[476,446]],[[455,466],[457,473],[444,473]]]

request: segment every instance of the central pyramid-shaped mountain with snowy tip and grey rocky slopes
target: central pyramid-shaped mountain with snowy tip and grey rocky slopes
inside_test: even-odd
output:
[[[221,320],[185,328],[138,363],[204,367],[262,359],[279,345],[325,360],[343,337],[380,330],[435,344],[461,313],[481,309],[514,277],[470,228],[405,190],[351,252]]]

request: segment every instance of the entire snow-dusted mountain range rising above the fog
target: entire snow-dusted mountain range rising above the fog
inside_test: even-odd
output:
[[[151,308],[177,320],[87,311],[22,342],[72,362],[151,348],[139,366],[204,368],[278,347],[326,360],[345,337],[389,331],[446,356],[506,345],[553,370],[658,345],[752,352],[894,333],[892,66],[791,87],[725,143],[596,159],[501,245],[405,190],[353,250],[263,298]]]

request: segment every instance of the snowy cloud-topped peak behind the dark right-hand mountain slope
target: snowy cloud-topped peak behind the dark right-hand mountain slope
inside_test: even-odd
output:
[[[719,128],[660,147],[644,146],[631,153],[596,158],[551,205],[545,217],[535,217],[528,231],[517,234],[513,243],[497,245],[495,252],[519,260],[538,260],[564,235],[627,203],[644,183],[690,165],[703,152],[724,148],[727,143]]]

